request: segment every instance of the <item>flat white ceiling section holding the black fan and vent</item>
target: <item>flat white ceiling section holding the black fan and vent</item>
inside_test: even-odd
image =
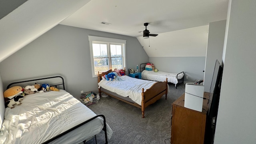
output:
[[[161,34],[225,20],[227,10],[228,0],[91,0],[60,24],[137,37],[145,22]]]

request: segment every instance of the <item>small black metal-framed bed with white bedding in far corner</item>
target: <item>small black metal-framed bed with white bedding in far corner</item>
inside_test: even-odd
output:
[[[145,69],[145,66],[148,63],[140,64],[140,72],[141,77],[144,80],[154,80],[158,82],[162,82],[166,78],[168,78],[168,82],[175,84],[175,87],[177,89],[177,86],[180,84],[184,84],[184,72],[180,73],[170,73],[170,72],[154,72],[153,70],[149,71]]]

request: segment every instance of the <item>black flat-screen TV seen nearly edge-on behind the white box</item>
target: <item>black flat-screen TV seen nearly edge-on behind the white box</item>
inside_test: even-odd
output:
[[[210,99],[209,99],[209,109],[208,117],[214,118],[218,113],[218,105],[220,100],[220,87],[222,79],[223,68],[218,60],[215,62],[214,72],[212,76],[212,83],[210,87]]]

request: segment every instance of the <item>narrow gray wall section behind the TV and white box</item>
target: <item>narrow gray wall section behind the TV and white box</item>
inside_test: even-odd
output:
[[[204,91],[210,92],[212,75],[216,59],[222,62],[222,53],[224,45],[224,36],[226,29],[226,20],[210,22],[208,33],[208,44],[206,52],[205,74],[204,74]]]

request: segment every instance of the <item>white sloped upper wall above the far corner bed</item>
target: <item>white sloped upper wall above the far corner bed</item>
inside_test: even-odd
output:
[[[206,56],[208,29],[205,25],[137,39],[149,57],[200,57]]]

